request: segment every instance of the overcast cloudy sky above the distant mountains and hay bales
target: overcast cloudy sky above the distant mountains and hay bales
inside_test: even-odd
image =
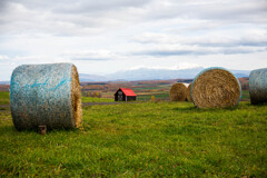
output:
[[[267,0],[0,0],[0,80],[23,63],[79,72],[267,67]]]

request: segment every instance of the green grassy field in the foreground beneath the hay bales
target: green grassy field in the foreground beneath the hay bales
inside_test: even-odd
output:
[[[81,130],[18,132],[0,110],[1,177],[266,177],[267,106],[83,108]]]

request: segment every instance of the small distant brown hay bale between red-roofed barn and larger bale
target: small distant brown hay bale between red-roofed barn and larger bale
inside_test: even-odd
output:
[[[171,101],[185,101],[186,100],[187,88],[184,83],[172,85],[169,96]]]

